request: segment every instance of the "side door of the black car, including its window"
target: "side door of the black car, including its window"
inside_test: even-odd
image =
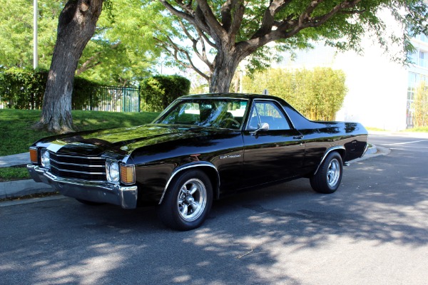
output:
[[[264,123],[269,125],[267,130],[260,129]],[[243,131],[243,186],[299,175],[305,157],[302,139],[279,104],[274,100],[255,100]]]

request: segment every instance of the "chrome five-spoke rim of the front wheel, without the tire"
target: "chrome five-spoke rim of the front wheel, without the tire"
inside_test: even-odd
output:
[[[207,203],[207,190],[202,181],[192,178],[180,188],[177,197],[178,214],[186,222],[193,222],[203,214]]]

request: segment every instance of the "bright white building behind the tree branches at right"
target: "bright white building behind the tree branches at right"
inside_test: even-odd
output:
[[[416,36],[412,43],[417,52],[411,56],[411,66],[392,62],[391,55],[367,37],[362,41],[362,56],[353,51],[337,53],[334,48],[318,45],[297,53],[295,61],[288,58],[280,67],[341,69],[346,74],[348,93],[336,120],[357,121],[382,130],[404,130],[412,128],[415,88],[422,80],[428,83],[428,37]]]

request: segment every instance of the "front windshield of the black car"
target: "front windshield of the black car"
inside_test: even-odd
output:
[[[230,98],[181,100],[153,123],[239,130],[247,105],[248,100]]]

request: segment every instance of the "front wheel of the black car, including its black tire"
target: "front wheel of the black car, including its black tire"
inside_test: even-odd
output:
[[[213,204],[213,186],[200,170],[174,177],[158,207],[158,216],[171,229],[188,231],[200,227]]]

